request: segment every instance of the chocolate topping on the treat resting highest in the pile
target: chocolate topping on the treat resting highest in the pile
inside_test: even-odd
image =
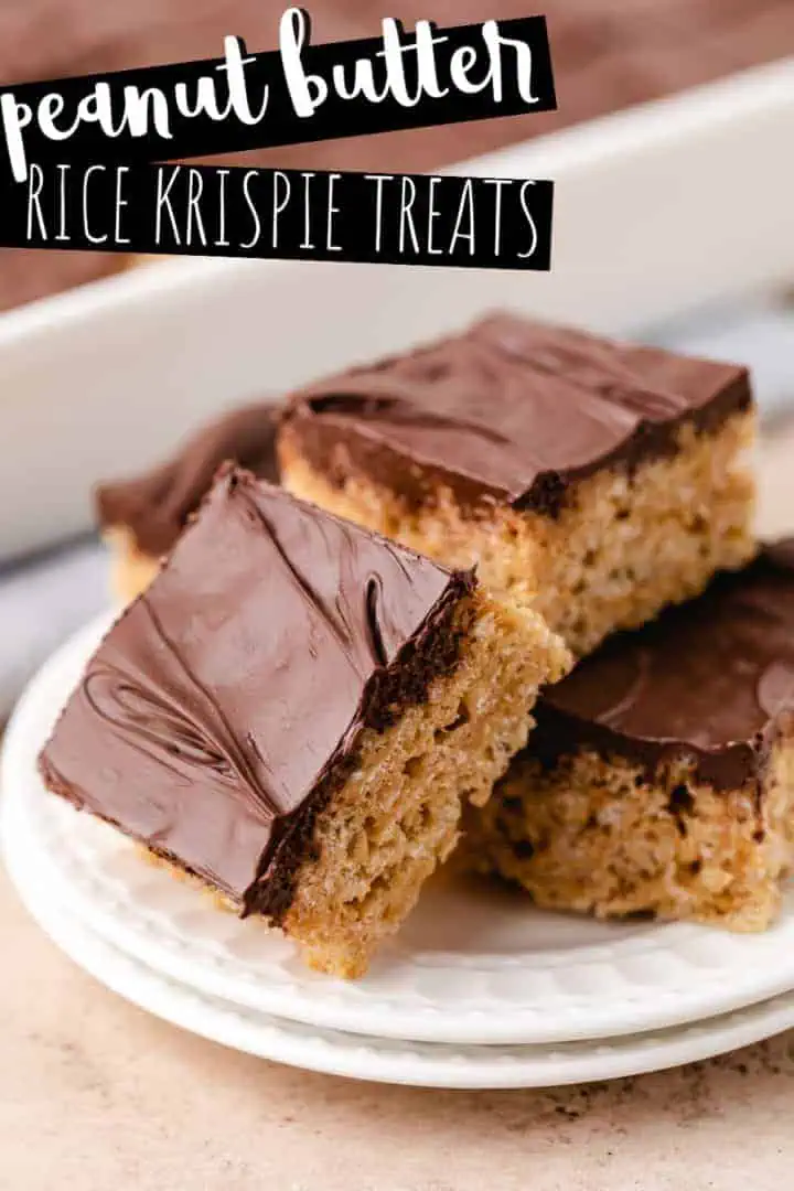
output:
[[[285,441],[331,482],[365,475],[411,504],[449,485],[467,505],[555,516],[577,480],[750,404],[745,368],[494,314],[299,392]]]

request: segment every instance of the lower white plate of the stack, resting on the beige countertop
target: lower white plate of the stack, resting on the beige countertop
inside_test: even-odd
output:
[[[310,1071],[420,1087],[551,1087],[708,1059],[794,1025],[792,993],[696,1025],[556,1047],[399,1042],[285,1022],[188,989],[113,947],[60,906],[46,869],[18,848],[13,815],[4,816],[2,834],[8,869],[29,910],[93,977],[193,1034]]]

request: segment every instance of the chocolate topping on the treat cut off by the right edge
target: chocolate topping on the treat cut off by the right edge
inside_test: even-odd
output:
[[[794,538],[580,662],[538,704],[530,747],[548,762],[590,747],[651,773],[689,757],[736,788],[793,713]]]

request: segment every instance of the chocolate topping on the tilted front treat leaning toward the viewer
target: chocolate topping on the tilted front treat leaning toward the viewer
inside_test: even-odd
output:
[[[45,781],[277,918],[363,729],[456,665],[473,587],[229,470],[88,663]]]

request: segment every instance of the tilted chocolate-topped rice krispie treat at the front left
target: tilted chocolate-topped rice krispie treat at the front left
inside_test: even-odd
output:
[[[88,663],[42,774],[355,977],[567,665],[471,572],[227,472]]]

